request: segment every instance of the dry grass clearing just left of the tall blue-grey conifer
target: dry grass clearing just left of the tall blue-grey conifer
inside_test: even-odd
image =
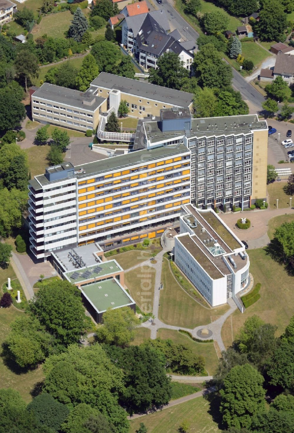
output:
[[[29,0],[27,0],[28,2]],[[27,6],[28,7],[28,6]],[[64,32],[69,29],[73,15],[69,10],[43,16],[40,24],[35,24],[32,29],[34,39],[46,34],[52,38],[64,38]]]

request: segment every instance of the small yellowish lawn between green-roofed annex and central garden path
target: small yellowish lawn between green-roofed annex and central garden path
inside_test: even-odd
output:
[[[153,308],[153,294],[155,284],[155,269],[141,267],[125,272],[125,286],[137,306],[144,312],[150,313]]]

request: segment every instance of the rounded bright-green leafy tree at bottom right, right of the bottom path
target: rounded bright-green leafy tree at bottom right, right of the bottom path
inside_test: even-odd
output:
[[[249,364],[236,365],[224,379],[221,413],[228,427],[248,428],[252,416],[264,413],[263,377]]]

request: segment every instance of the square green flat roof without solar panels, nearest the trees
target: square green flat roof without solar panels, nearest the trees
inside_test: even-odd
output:
[[[83,286],[81,291],[91,301],[98,313],[107,310],[109,307],[117,308],[134,304],[133,299],[114,278]]]

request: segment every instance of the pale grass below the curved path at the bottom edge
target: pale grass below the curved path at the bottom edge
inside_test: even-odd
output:
[[[142,422],[148,433],[176,433],[183,420],[190,425],[189,433],[221,432],[211,415],[209,402],[203,397],[197,397],[169,409],[131,420],[130,433],[134,433]]]

